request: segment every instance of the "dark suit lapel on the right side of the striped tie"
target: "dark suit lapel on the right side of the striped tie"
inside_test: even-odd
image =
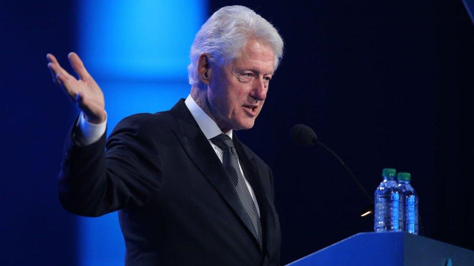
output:
[[[255,159],[250,157],[249,154],[245,152],[242,147],[242,144],[237,138],[237,135],[233,134],[234,146],[236,147],[240,162],[242,164],[242,169],[244,169],[245,176],[249,181],[252,189],[255,193],[255,198],[257,199],[258,206],[260,208],[260,221],[262,223],[262,232],[263,232],[263,242],[264,248],[268,254],[270,254],[273,244],[275,243],[275,211],[270,204],[267,193],[265,193],[262,181],[260,179],[260,174],[258,173]]]

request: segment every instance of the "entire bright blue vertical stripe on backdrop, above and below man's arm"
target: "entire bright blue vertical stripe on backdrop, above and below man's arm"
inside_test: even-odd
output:
[[[105,96],[109,134],[124,117],[168,110],[186,97],[189,48],[204,0],[79,0],[79,56]],[[80,217],[78,265],[123,265],[117,212]]]

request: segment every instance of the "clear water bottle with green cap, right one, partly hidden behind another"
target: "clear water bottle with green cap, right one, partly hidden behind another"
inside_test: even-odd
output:
[[[398,187],[403,198],[403,231],[418,235],[418,195],[410,185],[409,172],[399,172]]]

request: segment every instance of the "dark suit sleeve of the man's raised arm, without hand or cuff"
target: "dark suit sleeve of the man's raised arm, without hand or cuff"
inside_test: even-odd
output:
[[[108,141],[77,145],[77,122],[69,130],[58,176],[59,198],[68,211],[90,217],[140,207],[161,190],[161,159],[152,131],[152,114],[123,119]],[[107,151],[105,151],[107,146]]]

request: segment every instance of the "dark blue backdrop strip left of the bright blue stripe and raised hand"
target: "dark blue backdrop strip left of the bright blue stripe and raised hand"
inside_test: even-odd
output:
[[[3,1],[0,8],[2,265],[74,265],[76,219],[56,176],[74,108],[51,86],[46,53],[74,49],[68,1]]]

